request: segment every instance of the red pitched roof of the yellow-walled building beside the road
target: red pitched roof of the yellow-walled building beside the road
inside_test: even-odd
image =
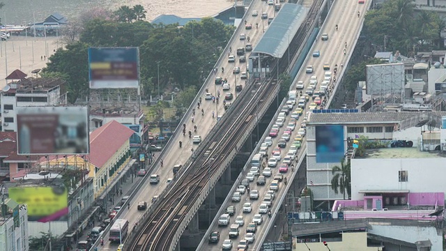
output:
[[[102,167],[114,153],[133,135],[134,130],[110,121],[94,130],[90,135],[90,162],[96,167]]]

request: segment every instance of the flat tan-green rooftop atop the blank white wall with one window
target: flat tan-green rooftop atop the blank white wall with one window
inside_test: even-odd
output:
[[[417,147],[367,149],[363,158],[445,158],[438,151],[420,151]]]

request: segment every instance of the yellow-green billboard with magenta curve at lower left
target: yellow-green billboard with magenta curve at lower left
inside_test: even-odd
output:
[[[39,222],[57,220],[68,213],[67,190],[61,187],[18,187],[8,189],[10,199],[26,204],[29,218]]]

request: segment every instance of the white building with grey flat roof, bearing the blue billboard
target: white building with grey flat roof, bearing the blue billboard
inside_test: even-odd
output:
[[[306,136],[307,185],[314,200],[331,203],[335,199],[344,199],[343,194],[336,194],[331,188],[332,167],[340,166],[341,159],[353,153],[353,139],[365,136],[389,145],[392,140],[406,140],[423,151],[433,150],[444,142],[445,134],[439,133],[438,126],[441,116],[445,115],[445,112],[311,114]],[[433,126],[415,127],[420,121]],[[331,207],[328,204],[323,208],[330,210]]]

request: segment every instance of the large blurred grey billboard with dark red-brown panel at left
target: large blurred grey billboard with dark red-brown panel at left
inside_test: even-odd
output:
[[[17,107],[17,154],[89,153],[87,107]]]

